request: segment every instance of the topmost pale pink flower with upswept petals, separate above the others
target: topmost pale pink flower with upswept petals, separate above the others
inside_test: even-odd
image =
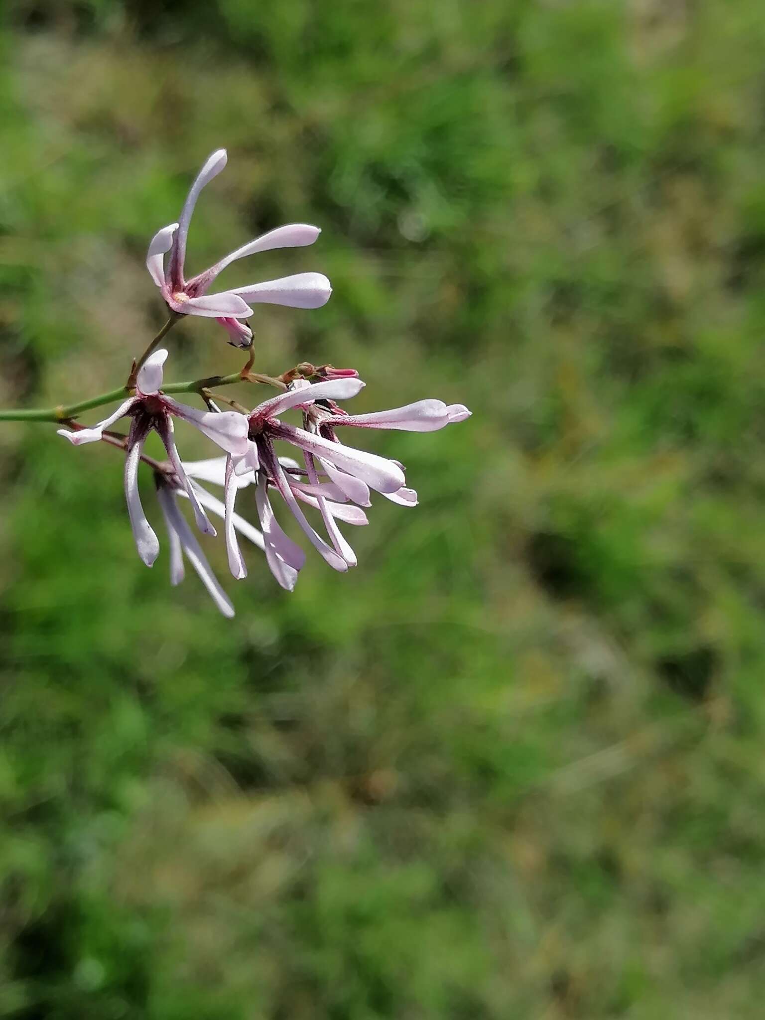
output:
[[[320,272],[300,272],[293,276],[251,284],[248,287],[238,287],[216,294],[207,293],[218,273],[237,259],[254,255],[256,252],[271,251],[274,248],[300,248],[312,245],[321,232],[317,226],[310,226],[308,223],[277,226],[249,244],[237,248],[204,272],[186,279],[186,245],[194,206],[204,186],[223,169],[226,158],[225,149],[218,149],[209,157],[189,191],[177,223],[163,226],[152,238],[146,266],[173,312],[215,318],[227,330],[231,337],[230,343],[237,347],[249,347],[252,342],[252,332],[240,319],[253,314],[250,304],[263,302],[287,305],[291,308],[319,308],[328,301],[332,287],[326,276]],[[164,256],[168,252],[169,257],[165,266]]]

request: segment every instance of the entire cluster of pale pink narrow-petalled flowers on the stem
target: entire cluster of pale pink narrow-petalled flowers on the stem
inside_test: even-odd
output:
[[[248,302],[267,301],[315,308],[324,304],[332,290],[325,276],[308,272],[232,291],[207,293],[218,273],[236,259],[273,248],[312,244],[318,228],[302,223],[271,231],[186,280],[184,267],[191,215],[202,188],[220,172],[225,161],[222,149],[207,160],[189,192],[178,222],[163,227],[153,238],[147,266],[174,316],[194,314],[216,318],[227,330],[231,343],[249,347],[252,332],[242,321],[252,314]],[[221,411],[217,406],[219,398],[214,398],[203,386],[210,380],[200,380],[196,389],[208,407],[201,411],[163,392],[167,351],[153,350],[154,346],[154,343],[150,345],[131,373],[130,395],[113,414],[91,427],[80,425],[73,418],[67,419],[69,428],[59,429],[59,435],[74,446],[105,440],[123,448],[128,514],[139,556],[147,566],[153,565],[160,546],[141,502],[138,468],[142,460],[153,468],[157,499],[167,529],[170,580],[177,584],[183,579],[186,558],[226,616],[234,615],[232,603],[187,522],[180,500],[188,500],[191,504],[197,528],[203,533],[216,534],[208,512],[222,519],[228,566],[234,577],[247,575],[239,544],[241,536],[263,552],[277,582],[292,591],[305,563],[305,552],[278,523],[272,500],[287,507],[310,545],[338,571],[347,571],[356,565],[356,555],[340,525],[366,524],[365,511],[371,505],[372,493],[400,506],[417,504],[417,494],[407,488],[404,467],[399,461],[349,446],[339,434],[344,437],[352,428],[434,431],[470,415],[461,404],[447,405],[431,399],[389,411],[351,414],[341,405],[364,388],[354,369],[337,369],[329,365],[316,369],[303,364],[271,379],[250,373],[251,361],[236,378],[257,378],[257,381],[267,378],[283,392],[263,401],[251,412],[238,404],[234,405],[235,410]],[[178,390],[176,387],[175,392]],[[284,420],[289,412],[300,416],[299,424]],[[121,418],[130,419],[126,436],[111,431],[111,426]],[[221,453],[209,460],[183,461],[175,446],[175,419],[199,429]],[[167,453],[166,461],[155,461],[145,455],[144,446],[151,431],[158,434]],[[285,450],[279,453],[279,445],[295,456],[286,455]],[[222,501],[203,483],[221,487]],[[251,506],[259,528],[237,512],[237,504],[241,510],[246,498],[240,494],[246,489],[254,493]],[[310,522],[304,508],[317,512],[316,526]]]

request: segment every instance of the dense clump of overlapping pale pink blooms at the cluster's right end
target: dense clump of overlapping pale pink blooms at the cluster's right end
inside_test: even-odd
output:
[[[404,471],[397,461],[376,454],[355,450],[343,445],[335,434],[336,424],[351,424],[369,428],[399,428],[409,431],[432,431],[445,425],[462,421],[470,412],[461,404],[448,406],[439,400],[424,400],[391,411],[366,415],[346,414],[336,401],[355,396],[364,384],[350,372],[338,373],[321,382],[297,380],[292,388],[277,397],[264,401],[250,415],[250,445],[244,456],[231,455],[225,467],[226,514],[234,511],[237,492],[243,479],[256,480],[258,511],[266,542],[273,530],[275,518],[268,502],[268,487],[275,488],[283,497],[301,529],[314,548],[336,570],[345,571],[356,565],[356,556],[340,531],[338,521],[365,524],[362,506],[369,506],[370,489],[393,502],[414,506],[417,494],[405,487]],[[303,428],[280,420],[280,415],[292,408],[303,410]],[[276,456],[273,444],[282,440],[296,447],[302,454],[304,468],[296,462],[287,462]],[[298,501],[307,503],[321,514],[329,542],[308,522]],[[358,504],[346,505],[348,502]],[[227,519],[227,518],[226,518]],[[280,528],[278,544],[287,539]],[[278,556],[269,566],[279,583],[284,582],[284,565],[295,556],[295,544],[287,539],[287,558],[284,548],[272,550]],[[226,527],[228,564],[236,577],[245,576],[246,569],[232,527]],[[302,565],[302,559],[301,559]],[[298,567],[299,569],[299,567]],[[294,581],[293,581],[294,583]]]

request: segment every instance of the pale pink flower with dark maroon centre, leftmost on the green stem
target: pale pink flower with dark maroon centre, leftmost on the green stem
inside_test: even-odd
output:
[[[138,465],[149,432],[154,429],[159,434],[178,483],[192,504],[197,526],[208,534],[215,534],[215,528],[204,512],[194,486],[184,470],[175,448],[172,419],[176,417],[189,421],[226,453],[241,455],[246,453],[248,448],[248,422],[245,415],[237,411],[219,413],[198,411],[194,407],[177,403],[161,392],[162,365],[166,357],[167,351],[160,350],[147,359],[136,379],[135,397],[130,397],[120,404],[108,418],[104,418],[91,428],[81,428],[73,432],[63,428],[58,430],[59,436],[64,436],[74,446],[81,446],[84,443],[95,443],[100,440],[104,430],[119,418],[125,415],[131,418],[125,447],[124,493],[138,554],[147,566],[154,563],[159,553],[159,542],[146,519],[138,491]]]

